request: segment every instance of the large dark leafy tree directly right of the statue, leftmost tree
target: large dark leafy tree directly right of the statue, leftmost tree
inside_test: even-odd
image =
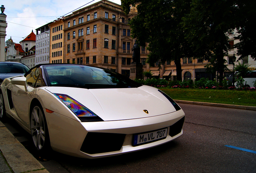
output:
[[[130,4],[138,3],[138,15],[130,20],[132,38],[140,46],[149,43],[147,63],[155,66],[159,62],[174,61],[177,80],[182,80],[181,58],[191,57],[191,48],[182,30],[182,17],[190,12],[191,0],[121,0],[128,14]]]

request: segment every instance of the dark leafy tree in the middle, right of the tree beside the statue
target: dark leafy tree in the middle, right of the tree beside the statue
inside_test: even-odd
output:
[[[193,57],[209,60],[206,67],[217,71],[220,82],[228,70],[224,56],[230,48],[228,33],[235,28],[234,6],[233,0],[192,0],[190,13],[183,18]]]

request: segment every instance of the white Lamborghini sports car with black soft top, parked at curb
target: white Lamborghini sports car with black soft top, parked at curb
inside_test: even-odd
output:
[[[99,158],[182,135],[184,112],[159,89],[104,68],[43,64],[0,86],[0,119],[15,119],[39,152]]]

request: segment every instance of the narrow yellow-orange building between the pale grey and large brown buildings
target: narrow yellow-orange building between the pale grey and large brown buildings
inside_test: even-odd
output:
[[[54,20],[50,27],[50,63],[64,63],[64,20]]]

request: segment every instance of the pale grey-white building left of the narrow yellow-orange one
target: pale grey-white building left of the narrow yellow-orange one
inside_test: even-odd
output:
[[[36,29],[35,65],[49,63],[50,28],[48,24]]]

